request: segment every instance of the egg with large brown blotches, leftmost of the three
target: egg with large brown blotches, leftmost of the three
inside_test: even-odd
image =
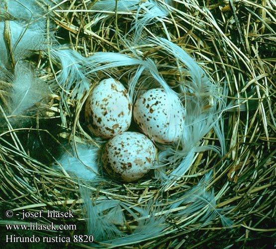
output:
[[[101,81],[85,105],[88,128],[101,138],[110,138],[126,131],[131,119],[132,104],[127,89],[114,79]]]

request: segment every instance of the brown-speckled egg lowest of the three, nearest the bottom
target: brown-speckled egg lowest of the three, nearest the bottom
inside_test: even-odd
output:
[[[131,182],[143,177],[156,159],[156,149],[144,134],[126,131],[105,145],[102,160],[107,173],[115,179]]]

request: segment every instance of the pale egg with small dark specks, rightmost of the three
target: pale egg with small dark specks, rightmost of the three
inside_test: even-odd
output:
[[[183,132],[184,107],[174,92],[146,91],[138,97],[133,115],[142,132],[156,142],[176,142]]]

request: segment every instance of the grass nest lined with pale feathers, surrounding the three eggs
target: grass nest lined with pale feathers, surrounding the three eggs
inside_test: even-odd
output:
[[[275,246],[273,0],[20,2],[0,6],[3,248]],[[181,139],[156,143],[130,183],[102,169],[107,140],[84,118],[107,78],[133,103],[168,87],[185,108]],[[39,97],[14,111],[29,89]]]

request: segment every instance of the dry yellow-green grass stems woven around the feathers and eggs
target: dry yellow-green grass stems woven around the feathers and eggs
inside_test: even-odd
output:
[[[158,3],[166,6],[161,1]],[[230,112],[223,114],[225,155],[221,158],[212,150],[195,153],[193,163],[185,176],[177,179],[177,184],[169,185],[165,192],[160,191],[160,183],[154,178],[151,179],[152,175],[131,184],[107,180],[99,182],[97,186],[92,186],[87,181],[82,185],[90,189],[93,205],[105,198],[121,201],[121,203],[126,202],[132,209],[140,207],[143,210],[147,210],[145,207],[153,200],[159,200],[162,203],[162,206],[158,207],[160,210],[154,210],[154,212],[156,217],[166,214],[166,220],[162,221],[166,226],[151,240],[137,241],[137,244],[143,248],[157,246],[215,248],[215,244],[219,241],[224,241],[225,247],[233,244],[233,246],[246,248],[253,243],[258,245],[258,238],[261,237],[268,239],[269,247],[270,243],[273,243],[272,238],[275,233],[272,222],[275,219],[273,218],[275,215],[273,209],[275,202],[273,189],[275,184],[273,150],[275,146],[273,138],[275,49],[271,42],[275,36],[273,2],[266,1],[267,5],[248,1],[215,4],[197,1],[185,3],[184,5],[182,2],[175,1],[169,15],[145,26],[143,35],[158,34],[167,37],[169,34],[175,44],[185,49],[206,72],[212,74],[214,81],[219,82],[222,89],[226,85],[228,102],[234,103],[237,108],[232,108]],[[98,51],[120,52],[126,49],[120,34],[124,35],[130,30],[133,21],[137,18],[135,11],[127,13],[106,11],[108,18],[92,26],[95,13],[86,11],[92,5],[93,2],[90,1],[86,3],[69,1],[68,5],[63,7],[64,9],[56,8],[55,11],[50,12],[51,18],[57,23],[57,35],[65,35],[70,45],[84,56],[91,56]],[[162,31],[161,27],[164,26],[166,29]],[[242,32],[243,30],[245,33]],[[153,58],[157,64],[164,65],[164,70],[159,70],[159,73],[168,79],[168,82],[173,85],[174,78],[183,77],[183,72],[177,71],[175,67],[172,70],[168,67],[172,64],[177,66],[178,61],[164,56],[156,47],[148,47],[148,44],[138,45],[138,50],[144,57]],[[49,78],[58,75],[57,71],[52,71],[53,68],[49,65],[47,56],[42,55],[34,62],[31,63],[41,65],[51,72]],[[109,71],[109,75],[114,77],[123,75],[122,79],[127,82],[129,78],[125,73],[129,69],[115,69]],[[97,77],[101,79],[106,77],[106,74],[100,73]],[[252,95],[248,93],[249,90],[252,90]],[[59,146],[61,151],[67,149],[64,144],[70,140],[101,145],[83,127],[81,108],[85,97],[75,100],[75,97],[72,97],[74,91],[71,89],[66,93],[60,90],[54,92],[50,108],[52,117],[34,117],[31,128],[8,125],[8,129],[4,128],[1,132],[1,204],[3,210],[10,208],[19,212],[23,209],[43,208],[60,211],[70,209],[75,214],[75,219],[70,222],[85,231],[81,205],[83,200],[78,194],[78,180],[69,177],[66,172],[56,171],[49,164],[39,160],[39,155],[44,153],[47,154],[43,158],[46,162],[55,158],[55,153],[47,144],[41,145],[41,140],[45,141],[45,138],[51,141],[52,147]],[[239,107],[241,100],[246,100],[247,111],[245,112],[242,106]],[[256,109],[251,110],[254,100],[258,100],[258,105]],[[56,132],[49,130],[47,121],[52,124],[54,121]],[[201,143],[205,146],[219,145],[218,140],[214,130],[210,130]],[[38,148],[34,153],[36,146]],[[171,200],[178,200],[177,198],[183,193],[188,193],[190,188],[197,186],[200,179],[203,180],[203,176],[212,169],[213,175],[206,185],[206,191],[212,194],[214,189],[216,208],[225,208],[223,214],[232,219],[232,230],[222,228],[218,217],[204,224],[204,221],[200,220],[202,216],[199,212],[193,211],[191,217],[173,215],[191,207],[191,200],[187,205],[180,205],[175,209],[166,208],[171,205]],[[167,167],[167,170],[169,174],[170,167]],[[154,206],[156,208],[157,205]],[[145,215],[139,213],[142,212],[141,210],[134,210],[141,217]],[[201,211],[204,213],[206,210]],[[108,216],[108,211],[104,209],[103,215]],[[134,216],[127,212],[126,207],[123,207],[123,213],[129,220],[125,225],[117,224],[117,226],[123,232],[131,234],[138,223]],[[1,223],[6,224],[6,222],[3,220]],[[38,222],[52,221],[45,219]],[[54,220],[54,222],[57,221]],[[17,223],[14,221],[14,224]],[[197,241],[194,240],[195,233],[199,238]],[[48,234],[52,235],[51,232]],[[181,239],[183,235],[185,240]],[[122,243],[120,247],[124,245]],[[84,245],[78,246],[84,247]]]

